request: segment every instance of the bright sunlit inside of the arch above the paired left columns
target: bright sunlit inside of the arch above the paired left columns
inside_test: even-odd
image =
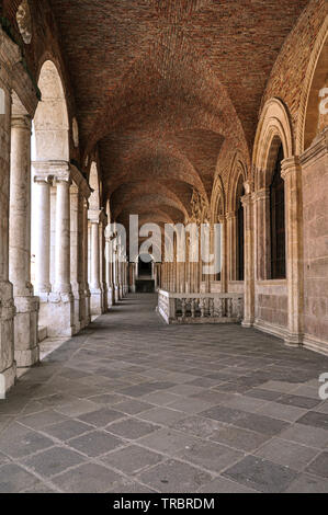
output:
[[[46,60],[39,72],[42,102],[34,116],[34,160],[69,161],[69,124],[66,98],[57,67]]]

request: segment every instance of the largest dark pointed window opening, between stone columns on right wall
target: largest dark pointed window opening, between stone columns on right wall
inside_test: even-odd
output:
[[[271,236],[271,278],[286,277],[285,249],[285,196],[284,180],[281,176],[281,162],[284,159],[280,145],[270,184],[270,236]]]

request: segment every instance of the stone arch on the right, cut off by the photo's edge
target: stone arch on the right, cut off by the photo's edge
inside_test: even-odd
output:
[[[326,91],[324,91],[326,90]],[[328,16],[314,45],[303,84],[299,116],[296,127],[296,152],[306,150],[318,133],[328,124],[320,105],[328,96]],[[325,105],[328,105],[326,100]],[[321,122],[321,123],[320,123]]]

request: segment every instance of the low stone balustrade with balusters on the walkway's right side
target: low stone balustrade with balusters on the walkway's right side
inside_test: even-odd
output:
[[[242,294],[172,294],[158,290],[158,312],[167,323],[238,323]]]

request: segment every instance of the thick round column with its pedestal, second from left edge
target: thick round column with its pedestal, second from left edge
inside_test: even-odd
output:
[[[38,362],[38,299],[31,284],[31,118],[11,124],[9,278],[13,284],[15,360],[20,368]]]

